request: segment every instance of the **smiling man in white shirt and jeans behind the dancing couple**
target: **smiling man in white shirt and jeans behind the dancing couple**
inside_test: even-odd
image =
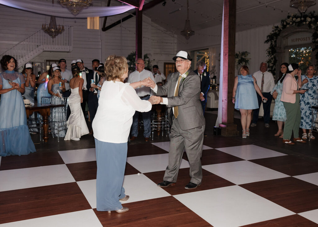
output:
[[[133,83],[137,81],[142,81],[143,79],[146,79],[150,77],[153,81],[155,81],[154,76],[152,75],[152,72],[145,70],[145,62],[141,59],[138,58],[136,60],[136,70],[132,73],[130,73],[127,82],[128,83]],[[150,97],[151,89],[149,87],[145,87],[140,85],[138,88],[135,89],[137,95],[140,97],[142,100],[148,100]],[[133,141],[137,138],[138,136],[138,117],[139,117],[139,112],[136,111],[134,116],[133,116],[133,124],[131,126],[131,137],[130,141]],[[150,111],[148,112],[142,112],[142,120],[143,120],[143,136],[145,137],[145,141],[149,141],[151,129],[150,129],[150,120],[151,120],[151,113]]]

